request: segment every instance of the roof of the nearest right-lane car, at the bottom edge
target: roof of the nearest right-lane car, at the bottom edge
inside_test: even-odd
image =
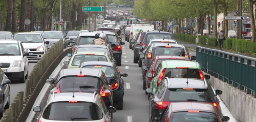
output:
[[[170,103],[168,106],[169,106],[169,109],[172,111],[172,113],[188,111],[188,110],[198,110],[198,111],[216,113],[214,106],[210,103],[176,102],[176,103]]]

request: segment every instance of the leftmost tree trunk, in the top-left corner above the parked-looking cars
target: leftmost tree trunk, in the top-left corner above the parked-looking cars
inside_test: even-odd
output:
[[[5,31],[11,32],[12,30],[12,1],[8,0],[7,4],[8,10],[7,10],[7,17],[6,17],[6,27]]]

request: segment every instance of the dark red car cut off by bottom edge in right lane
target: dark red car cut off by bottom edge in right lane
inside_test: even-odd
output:
[[[228,116],[218,114],[216,108],[209,103],[180,102],[170,103],[161,114],[160,121],[227,121]]]

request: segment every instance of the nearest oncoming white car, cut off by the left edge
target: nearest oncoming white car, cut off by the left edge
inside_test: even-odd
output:
[[[24,83],[28,77],[28,56],[22,42],[16,40],[0,41],[0,67],[10,80]]]

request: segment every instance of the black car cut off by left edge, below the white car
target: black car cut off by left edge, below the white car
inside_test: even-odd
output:
[[[11,80],[5,75],[3,70],[0,68],[0,81],[1,81],[1,89],[0,89],[0,118],[4,115],[4,109],[8,109],[10,107],[10,83]]]

